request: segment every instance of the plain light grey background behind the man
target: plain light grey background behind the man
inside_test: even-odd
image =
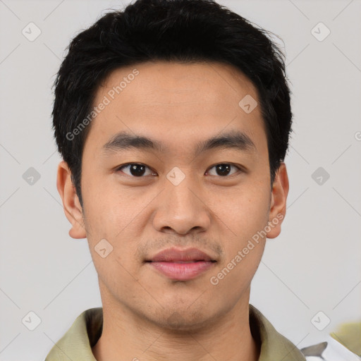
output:
[[[302,348],[361,318],[361,3],[219,3],[285,44],[294,114],[288,209],[281,235],[267,241],[251,303]],[[56,190],[51,85],[71,39],[122,4],[0,0],[2,361],[44,360],[81,312],[101,306],[87,240],[68,235]],[[34,42],[22,34],[30,22],[42,32]],[[311,32],[319,22],[331,31],[322,42]],[[40,174],[34,185],[23,179],[30,167]],[[319,167],[330,175],[322,185],[312,178]],[[21,321],[30,311],[42,320],[34,331]],[[323,331],[310,321],[319,311],[331,319]]]

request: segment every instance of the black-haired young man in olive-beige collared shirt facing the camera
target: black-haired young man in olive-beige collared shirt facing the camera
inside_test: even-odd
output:
[[[55,83],[57,187],[102,307],[53,360],[305,360],[249,304],[286,215],[281,51],[211,0],[138,0],[73,39]]]

